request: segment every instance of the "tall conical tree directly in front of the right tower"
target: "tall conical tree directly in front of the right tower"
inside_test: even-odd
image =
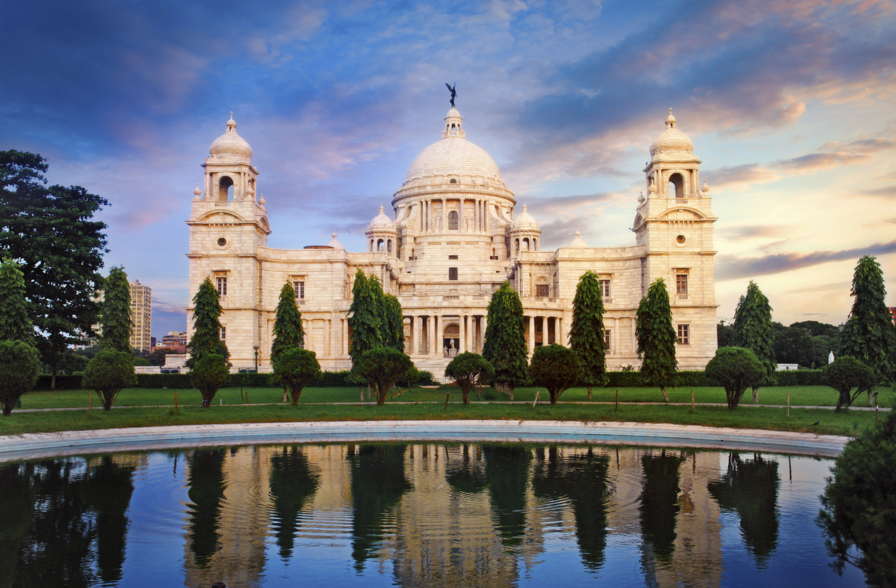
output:
[[[641,359],[641,380],[647,385],[658,385],[663,398],[669,402],[666,386],[675,385],[678,360],[675,346],[678,338],[672,327],[672,307],[666,281],[658,278],[641,299],[634,324],[638,340],[638,359]]]

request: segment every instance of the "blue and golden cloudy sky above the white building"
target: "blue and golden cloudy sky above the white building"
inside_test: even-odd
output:
[[[231,111],[269,246],[364,251],[445,82],[543,250],[633,245],[672,108],[719,219],[719,318],[753,280],[774,320],[840,324],[862,255],[896,306],[896,2],[0,0],[0,149],[108,199],[106,271],[152,288],[159,339],[186,328],[185,220]]]

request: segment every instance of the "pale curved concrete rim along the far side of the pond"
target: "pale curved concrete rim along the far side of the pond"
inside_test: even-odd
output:
[[[0,463],[185,446],[377,441],[602,443],[836,457],[849,437],[763,429],[562,420],[371,420],[107,428],[0,437]]]

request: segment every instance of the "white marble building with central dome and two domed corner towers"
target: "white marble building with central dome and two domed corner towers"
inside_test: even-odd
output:
[[[680,369],[700,369],[715,353],[709,188],[700,160],[669,114],[643,170],[647,197],[634,211],[634,243],[591,247],[579,234],[556,251],[541,249],[541,230],[504,185],[495,161],[466,138],[452,108],[439,141],[411,163],[392,198],[366,229],[367,250],[349,253],[336,239],[323,246],[273,249],[271,225],[257,191],[252,148],[227,132],[211,143],[203,188],[196,187],[190,227],[191,298],[211,277],[221,294],[221,335],[236,368],[270,365],[271,329],[280,289],[289,282],[305,321],[306,348],[323,369],[350,367],[349,321],[354,274],[361,268],[396,295],[405,316],[405,351],[418,368],[440,376],[458,351],[482,350],[488,300],[503,281],[520,292],[530,353],[568,344],[579,277],[598,272],[607,307],[607,365],[639,364],[634,317],[650,282],[669,288]],[[188,310],[193,325],[193,308]]]

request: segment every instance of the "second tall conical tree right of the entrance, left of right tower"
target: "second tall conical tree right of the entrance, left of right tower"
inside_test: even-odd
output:
[[[584,272],[575,287],[573,326],[569,330],[569,346],[582,360],[582,383],[604,385],[607,381],[607,343],[604,340],[604,298],[595,272]]]

